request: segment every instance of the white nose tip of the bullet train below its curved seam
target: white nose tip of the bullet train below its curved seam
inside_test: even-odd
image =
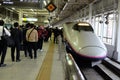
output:
[[[90,58],[103,58],[106,57],[107,51],[102,47],[84,47],[79,50],[81,55]]]

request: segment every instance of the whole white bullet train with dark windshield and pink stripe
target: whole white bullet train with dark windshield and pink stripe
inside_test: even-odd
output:
[[[102,60],[107,55],[103,42],[87,22],[67,22],[63,24],[66,51],[77,60]]]

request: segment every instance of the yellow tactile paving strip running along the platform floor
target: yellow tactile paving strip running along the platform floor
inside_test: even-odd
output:
[[[50,80],[53,55],[54,55],[54,43],[51,42],[36,80]]]

